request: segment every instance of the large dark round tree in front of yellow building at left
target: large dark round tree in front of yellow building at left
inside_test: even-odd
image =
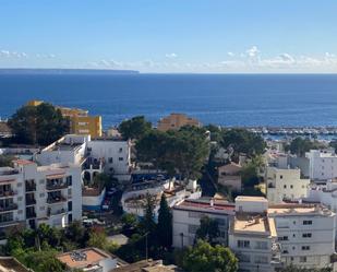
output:
[[[69,120],[47,103],[21,107],[8,123],[17,142],[25,144],[48,145],[69,132]]]

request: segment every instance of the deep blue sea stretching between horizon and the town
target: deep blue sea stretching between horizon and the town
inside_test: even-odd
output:
[[[221,126],[337,126],[337,74],[0,74],[0,117],[29,99],[101,115],[104,127],[185,113]]]

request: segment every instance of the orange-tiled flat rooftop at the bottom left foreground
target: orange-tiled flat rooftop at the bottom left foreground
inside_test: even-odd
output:
[[[85,248],[61,253],[57,258],[70,269],[81,269],[98,264],[99,261],[111,258],[111,256],[97,248]]]

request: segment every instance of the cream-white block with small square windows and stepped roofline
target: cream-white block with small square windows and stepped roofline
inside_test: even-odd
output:
[[[309,185],[310,179],[302,179],[300,169],[267,167],[267,199],[272,204],[305,198]]]

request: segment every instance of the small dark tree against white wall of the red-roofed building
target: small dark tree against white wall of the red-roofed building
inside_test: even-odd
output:
[[[214,218],[203,216],[200,220],[200,227],[196,229],[195,239],[202,239],[209,244],[214,244],[215,239],[219,237],[219,226]]]

